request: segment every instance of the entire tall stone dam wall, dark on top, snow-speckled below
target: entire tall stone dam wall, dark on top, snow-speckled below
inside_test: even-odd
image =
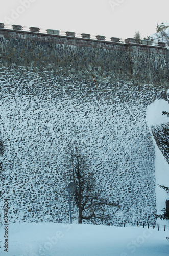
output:
[[[77,143],[104,196],[121,206],[105,209],[103,223],[153,223],[146,109],[166,98],[167,49],[69,35],[0,28],[2,216],[7,198],[11,222],[68,222],[65,157]]]

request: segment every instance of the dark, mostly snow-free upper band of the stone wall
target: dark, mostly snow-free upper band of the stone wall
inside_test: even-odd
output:
[[[18,66],[52,65],[54,72],[74,70],[87,77],[109,77],[112,81],[165,84],[167,51],[165,47],[122,44],[84,38],[0,29],[3,62]],[[8,38],[8,39],[5,39]],[[113,73],[112,73],[113,70]],[[79,74],[80,74],[79,73]]]

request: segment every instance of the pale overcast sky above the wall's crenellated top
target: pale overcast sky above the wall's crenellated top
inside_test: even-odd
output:
[[[169,22],[169,0],[5,0],[0,23],[128,38]]]

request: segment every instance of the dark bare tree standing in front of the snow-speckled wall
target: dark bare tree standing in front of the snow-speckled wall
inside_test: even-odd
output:
[[[69,177],[77,187],[74,199],[79,209],[78,223],[82,223],[82,220],[93,221],[95,218],[108,219],[109,214],[105,213],[102,206],[119,207],[119,205],[102,196],[102,190],[96,186],[95,175],[91,171],[91,165],[87,157],[80,154],[77,146],[71,149],[70,164]]]

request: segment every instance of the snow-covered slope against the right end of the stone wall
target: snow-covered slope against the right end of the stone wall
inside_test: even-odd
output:
[[[147,109],[147,122],[152,135],[155,152],[155,177],[156,177],[156,207],[157,213],[162,214],[162,209],[165,208],[165,201],[168,199],[168,194],[159,185],[169,186],[169,164],[168,164],[168,148],[163,146],[163,139],[167,137],[169,118],[162,115],[162,111],[169,112],[169,104],[166,100],[155,100]],[[164,129],[167,129],[164,131]],[[161,221],[168,225],[169,221]]]

